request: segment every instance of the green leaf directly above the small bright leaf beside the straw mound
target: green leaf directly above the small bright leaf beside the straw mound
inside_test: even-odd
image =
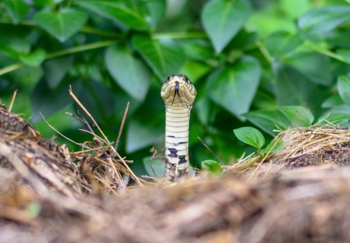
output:
[[[275,135],[273,130],[285,130],[291,124],[288,118],[277,110],[254,110],[242,116],[271,136]]]

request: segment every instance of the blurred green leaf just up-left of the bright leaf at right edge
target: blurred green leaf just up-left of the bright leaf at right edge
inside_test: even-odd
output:
[[[315,52],[297,52],[285,58],[284,62],[309,77],[315,84],[325,86],[332,84],[330,60],[326,55]]]

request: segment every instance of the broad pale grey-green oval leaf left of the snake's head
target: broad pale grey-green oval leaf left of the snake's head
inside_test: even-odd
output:
[[[125,47],[111,46],[104,55],[107,68],[116,82],[136,100],[145,99],[151,73],[147,66],[134,58]]]

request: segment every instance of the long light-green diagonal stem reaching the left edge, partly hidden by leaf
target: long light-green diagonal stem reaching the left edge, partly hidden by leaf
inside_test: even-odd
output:
[[[117,43],[117,41],[109,40],[109,41],[86,44],[86,45],[78,46],[78,47],[72,47],[72,48],[60,50],[57,52],[49,53],[46,55],[45,60],[49,60],[52,58],[56,58],[56,57],[60,57],[60,56],[68,55],[68,54],[73,54],[73,53],[77,53],[77,52],[83,52],[83,51],[98,49],[98,48],[102,48],[102,47],[108,47],[108,46],[112,46],[116,43]],[[0,76],[6,74],[8,72],[17,70],[18,68],[23,67],[23,66],[24,66],[23,63],[15,63],[15,64],[12,64],[10,66],[1,68],[0,69]]]

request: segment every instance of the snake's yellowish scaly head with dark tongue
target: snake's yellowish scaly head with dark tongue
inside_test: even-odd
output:
[[[184,75],[170,75],[161,89],[166,106],[192,107],[197,92],[190,79]]]

